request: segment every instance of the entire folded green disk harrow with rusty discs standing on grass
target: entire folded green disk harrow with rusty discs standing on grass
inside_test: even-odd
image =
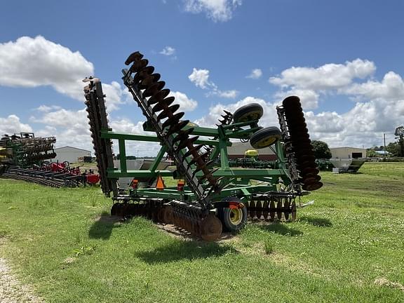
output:
[[[299,98],[288,97],[278,107],[281,130],[258,126],[262,107],[257,104],[241,107],[234,114],[225,111],[217,128],[194,126],[181,119],[184,113],[176,113],[179,105],[173,105],[174,97],[168,97],[170,90],[163,89],[165,83],[159,81],[160,74],[153,74],[154,67],[148,66],[142,57],[139,52],[129,56],[126,65],[131,67],[123,69],[123,82],[147,118],[145,130],[156,135],[114,133],[108,127],[100,80],[84,80],[88,82],[84,91],[100,184],[107,196],[113,194],[112,215],[144,215],[157,222],[175,224],[207,241],[219,238],[222,229],[240,230],[248,216],[258,220],[294,220],[295,198],[305,190],[322,186]],[[255,148],[273,145],[278,168],[229,168],[227,147],[231,146],[231,139],[250,140]],[[112,140],[119,142],[119,170],[114,168]],[[149,170],[127,170],[126,141],[161,144]],[[156,169],[165,154],[173,159],[175,171]],[[221,164],[214,168],[217,158]],[[133,177],[149,182],[149,186],[119,189],[119,177]],[[184,179],[187,185],[159,190],[152,186],[152,181],[159,177]]]

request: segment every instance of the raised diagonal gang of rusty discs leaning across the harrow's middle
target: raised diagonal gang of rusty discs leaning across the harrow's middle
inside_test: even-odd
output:
[[[209,194],[220,189],[217,179],[208,168],[212,163],[206,161],[207,154],[199,153],[204,145],[194,144],[198,140],[198,136],[190,136],[194,128],[183,130],[189,120],[180,120],[184,112],[177,112],[180,106],[172,105],[175,98],[168,97],[169,89],[163,89],[166,83],[160,81],[161,76],[154,73],[154,67],[148,66],[149,61],[142,58],[143,55],[139,52],[128,57],[125,64],[131,66],[122,71],[123,83],[142,109],[161,144],[166,147],[167,153],[174,159],[178,173],[184,176],[198,197],[198,202],[206,208],[209,204]],[[187,151],[184,152],[184,149]],[[191,167],[193,165],[196,166],[195,170]],[[203,174],[200,179],[196,177],[199,171]],[[202,180],[208,182],[205,188],[201,186]]]

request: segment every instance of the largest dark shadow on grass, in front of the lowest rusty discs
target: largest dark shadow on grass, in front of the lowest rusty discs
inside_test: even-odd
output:
[[[214,242],[174,241],[152,251],[137,252],[135,253],[135,257],[138,257],[149,264],[159,264],[180,260],[220,257],[226,253],[238,253],[238,251],[231,248],[229,245],[220,245]]]

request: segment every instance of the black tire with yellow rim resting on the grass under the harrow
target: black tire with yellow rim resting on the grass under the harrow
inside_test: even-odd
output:
[[[225,198],[224,201],[239,202],[236,197]],[[247,223],[247,207],[243,208],[217,208],[217,217],[222,221],[223,231],[236,233],[243,229]]]

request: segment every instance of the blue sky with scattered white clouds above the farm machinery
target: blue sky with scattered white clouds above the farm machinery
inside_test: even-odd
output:
[[[95,74],[112,127],[142,133],[120,72],[140,50],[201,125],[250,102],[276,125],[275,106],[296,94],[312,138],[381,145],[404,124],[403,12],[403,1],[4,1],[0,132],[90,149],[79,80]]]

